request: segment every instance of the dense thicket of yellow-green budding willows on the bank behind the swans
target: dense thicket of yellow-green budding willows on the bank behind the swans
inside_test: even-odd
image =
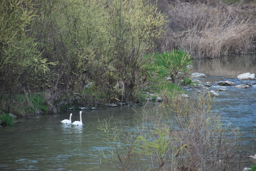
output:
[[[4,0],[0,5],[0,91],[2,98],[9,96],[4,107],[10,112],[13,94],[28,91],[47,90],[45,101],[53,112],[76,100],[132,100],[147,74],[142,56],[154,48],[165,25],[154,4],[142,0]],[[74,94],[82,92],[83,97]]]

